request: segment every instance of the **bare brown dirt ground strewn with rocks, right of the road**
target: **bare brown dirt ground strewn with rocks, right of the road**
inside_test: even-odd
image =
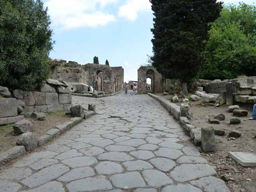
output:
[[[162,96],[165,99],[171,100],[171,95]],[[182,100],[181,100],[182,101]],[[255,192],[256,191],[256,167],[243,167],[234,161],[228,155],[228,152],[252,152],[256,153],[256,120],[248,120],[252,114],[252,105],[238,103],[241,109],[249,112],[247,117],[239,117],[240,124],[229,124],[230,118],[234,116],[227,111],[228,106],[223,105],[220,107],[215,106],[202,106],[197,105],[200,102],[191,102],[191,110],[193,112],[193,120],[191,124],[197,128],[212,126],[215,129],[223,129],[226,134],[224,136],[215,136],[216,151],[211,153],[204,153],[202,148],[199,147],[202,155],[208,162],[214,166],[219,177],[225,175],[230,178],[227,185],[234,192]],[[180,103],[177,103],[180,105]],[[226,119],[220,121],[220,124],[208,123],[208,117],[212,118],[218,114],[224,114]],[[228,133],[231,130],[238,130],[242,133],[240,138],[230,140]],[[245,190],[244,190],[245,189]]]

